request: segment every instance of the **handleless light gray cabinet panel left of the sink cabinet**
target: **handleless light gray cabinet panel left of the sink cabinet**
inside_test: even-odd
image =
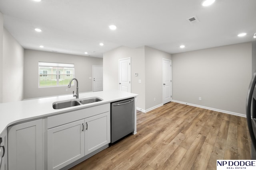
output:
[[[43,169],[42,119],[8,127],[8,169]]]

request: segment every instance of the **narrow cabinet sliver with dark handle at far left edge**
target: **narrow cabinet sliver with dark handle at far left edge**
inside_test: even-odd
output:
[[[8,170],[7,161],[7,130],[5,130],[0,136],[0,170]]]

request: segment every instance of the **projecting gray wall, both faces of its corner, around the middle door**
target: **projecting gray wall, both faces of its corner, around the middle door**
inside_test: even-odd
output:
[[[118,59],[128,57],[131,57],[131,92],[139,95],[138,109],[148,111],[161,105],[162,59],[171,59],[171,55],[147,46],[136,49],[122,46],[104,53],[103,90],[118,90]],[[135,73],[138,73],[138,76],[135,76]],[[138,80],[141,80],[141,83]]]

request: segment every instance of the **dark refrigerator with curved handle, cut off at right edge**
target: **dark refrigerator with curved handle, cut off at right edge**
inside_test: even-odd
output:
[[[256,72],[252,76],[247,98],[246,98],[246,119],[250,137],[252,139],[251,158],[256,159]]]

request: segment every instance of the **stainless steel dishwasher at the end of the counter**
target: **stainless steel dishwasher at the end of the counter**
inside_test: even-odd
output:
[[[134,131],[134,98],[111,103],[111,143]]]

